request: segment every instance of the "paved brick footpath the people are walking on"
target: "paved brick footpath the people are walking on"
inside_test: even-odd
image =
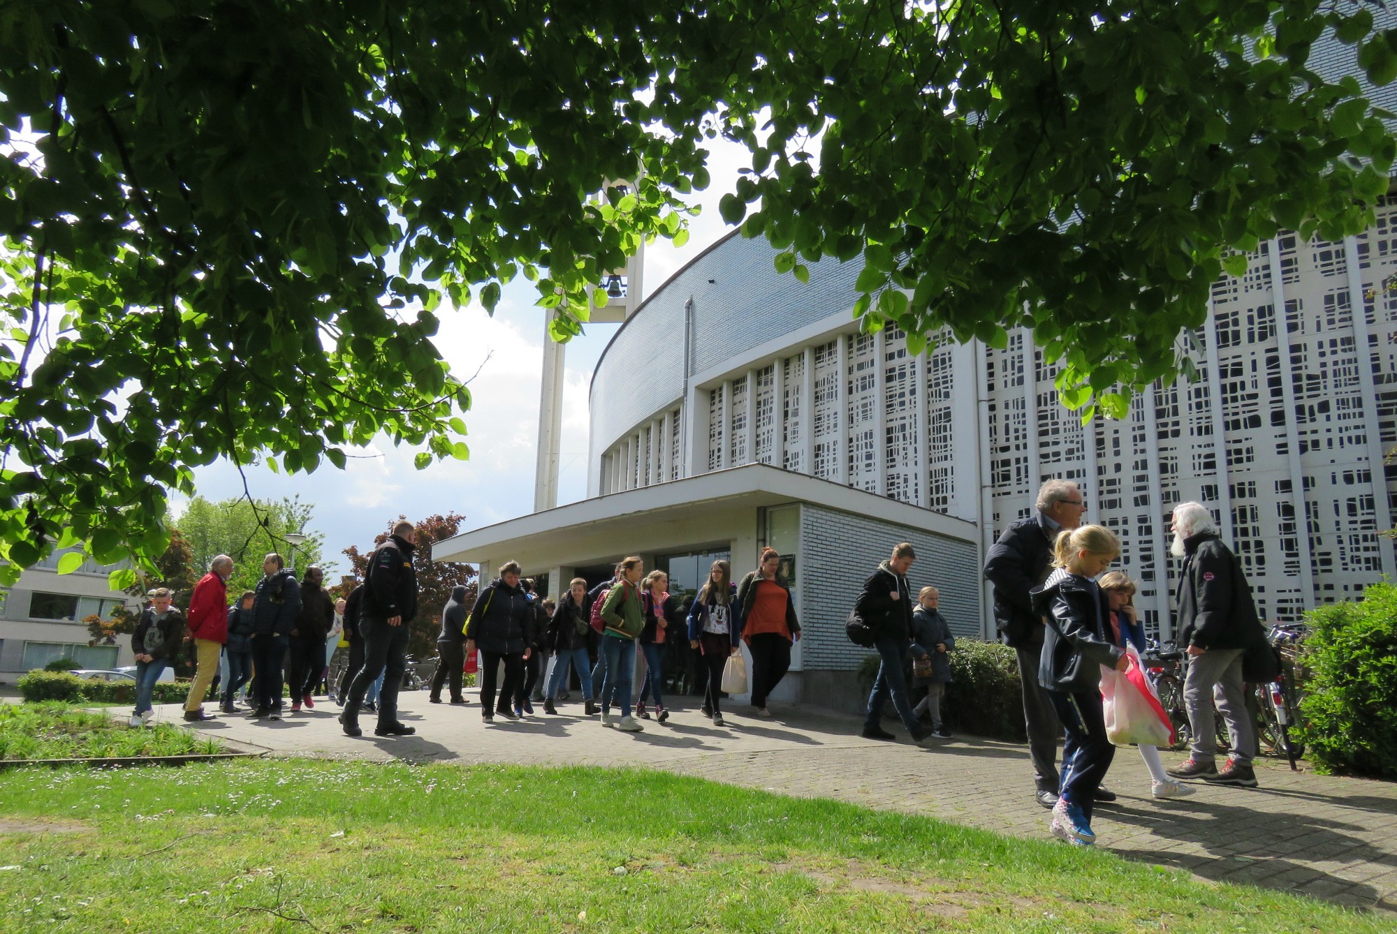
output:
[[[567,702],[562,716],[496,718],[488,727],[478,698],[468,697],[468,705],[453,706],[429,704],[423,691],[404,692],[401,719],[418,736],[401,739],[374,737],[373,715],[362,719],[363,737],[344,736],[339,708],[327,701],[275,723],[219,716],[197,729],[274,755],[651,766],[1011,835],[1046,832],[1048,813],[1032,800],[1023,746],[978,737],[928,748],[877,743],[858,736],[856,718],[787,705],[774,705],[774,719],[747,716],[750,708],[739,706],[725,713],[726,727],[715,727],[694,704],[676,709],[664,726],[648,720],[644,733],[620,733],[583,718],[581,702]],[[161,720],[179,720],[176,705],[156,711]],[[1165,761],[1173,758],[1166,754]],[[1397,912],[1397,785],[1291,772],[1274,759],[1257,762],[1257,778],[1259,789],[1200,783],[1192,797],[1157,804],[1140,755],[1119,750],[1108,780],[1119,801],[1099,807],[1092,822],[1099,845],[1208,880]]]

